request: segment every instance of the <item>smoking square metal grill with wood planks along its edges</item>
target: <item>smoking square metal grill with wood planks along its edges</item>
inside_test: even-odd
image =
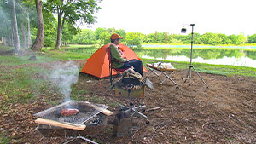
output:
[[[79,110],[79,113],[67,117],[61,116],[61,109],[67,107],[77,108]],[[80,140],[84,140],[96,144],[95,141],[91,141],[84,136],[81,136],[80,130],[84,130],[86,128],[86,125],[92,126],[102,123],[102,117],[98,115],[101,112],[107,116],[112,115],[113,112],[108,111],[107,108],[108,106],[102,104],[93,104],[89,101],[67,101],[61,103],[58,106],[51,107],[47,110],[34,114],[37,117],[41,117],[35,120],[35,122],[39,124],[37,130],[43,136],[45,134],[48,135],[47,130],[56,131],[56,129],[63,128],[66,128],[68,130],[75,130],[78,131],[78,135],[68,135],[69,138],[67,138],[64,143],[69,143],[73,141],[78,141],[78,143],[80,143]],[[44,125],[42,126],[42,124]],[[66,137],[66,130],[64,130],[64,133]]]

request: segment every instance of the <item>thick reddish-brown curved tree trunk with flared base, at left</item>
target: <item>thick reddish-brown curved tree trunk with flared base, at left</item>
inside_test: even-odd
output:
[[[40,51],[44,45],[44,20],[42,13],[42,5],[43,3],[40,0],[36,0],[36,7],[38,13],[38,35],[35,43],[32,45],[32,50]]]

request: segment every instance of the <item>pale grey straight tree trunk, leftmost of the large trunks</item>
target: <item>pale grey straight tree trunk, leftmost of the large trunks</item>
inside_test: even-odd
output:
[[[14,52],[18,52],[20,50],[20,39],[18,33],[17,19],[16,19],[16,10],[15,10],[15,0],[12,0],[12,17],[13,17],[13,26],[14,26]]]

